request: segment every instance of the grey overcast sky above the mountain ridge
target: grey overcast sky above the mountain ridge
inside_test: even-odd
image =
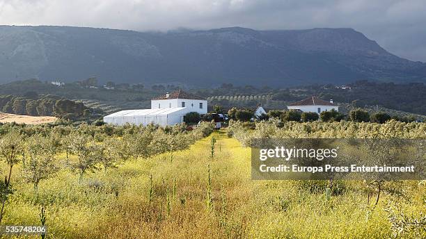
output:
[[[0,0],[0,24],[167,31],[351,27],[426,62],[425,0]]]

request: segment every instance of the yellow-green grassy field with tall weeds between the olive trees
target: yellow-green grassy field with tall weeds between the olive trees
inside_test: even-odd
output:
[[[361,181],[340,182],[326,200],[325,181],[252,181],[250,168],[250,149],[225,131],[184,151],[87,174],[80,183],[63,169],[37,193],[18,166],[3,223],[40,224],[44,205],[47,238],[391,238],[389,218],[400,215],[386,208],[407,218],[425,213],[423,182],[404,182],[404,199],[384,194],[372,209]]]

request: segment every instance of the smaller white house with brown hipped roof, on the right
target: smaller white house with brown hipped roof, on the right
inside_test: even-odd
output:
[[[322,113],[322,111],[336,110],[339,111],[339,106],[330,101],[324,101],[317,97],[309,97],[301,101],[294,102],[287,106],[289,110],[301,110],[302,112]]]

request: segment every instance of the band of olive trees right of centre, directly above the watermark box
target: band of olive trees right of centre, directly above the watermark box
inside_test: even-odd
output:
[[[231,121],[228,135],[244,146],[253,138],[426,138],[425,123],[404,123],[394,119],[385,124],[368,122],[282,122],[280,119],[256,122],[254,131]]]

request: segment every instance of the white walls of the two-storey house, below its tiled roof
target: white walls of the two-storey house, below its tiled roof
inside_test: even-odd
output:
[[[184,114],[193,111],[201,115],[207,114],[207,101],[200,99],[153,99],[151,108],[178,108],[182,107],[182,102],[185,102]],[[203,103],[203,108],[200,108],[200,103]]]

